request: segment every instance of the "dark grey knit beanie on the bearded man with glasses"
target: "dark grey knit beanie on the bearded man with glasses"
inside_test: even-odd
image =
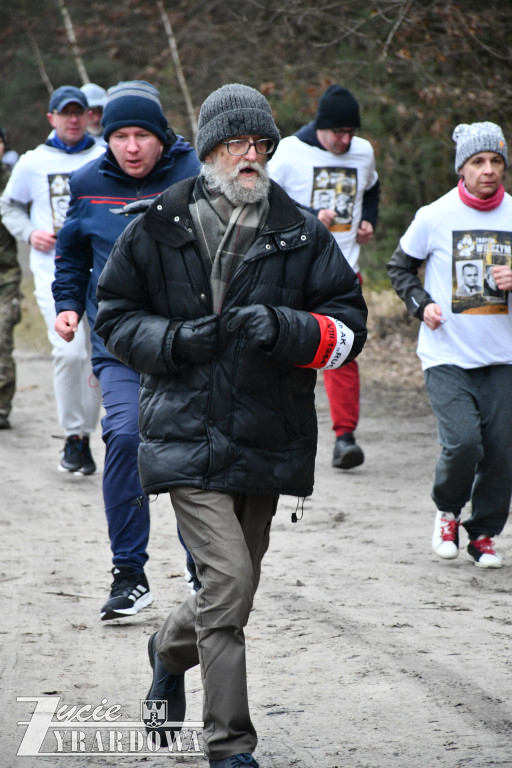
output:
[[[281,138],[266,98],[255,88],[223,85],[203,102],[197,124],[197,155],[201,161],[223,139],[237,136]]]

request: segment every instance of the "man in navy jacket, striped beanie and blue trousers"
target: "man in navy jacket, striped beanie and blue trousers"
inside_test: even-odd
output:
[[[56,248],[55,330],[66,341],[73,339],[84,312],[94,327],[98,277],[138,212],[137,201],[156,197],[199,168],[195,150],[169,128],[159,93],[149,83],[111,88],[102,124],[108,149],[71,176],[70,208]],[[126,205],[128,212],[120,214]],[[103,498],[114,581],[101,609],[105,621],[131,616],[153,602],[144,573],[149,503],[137,467],[139,374],[114,358],[94,331],[92,362],[106,411]]]

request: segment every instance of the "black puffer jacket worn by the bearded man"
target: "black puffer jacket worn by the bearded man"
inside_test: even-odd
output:
[[[328,230],[272,184],[267,223],[224,300],[217,354],[201,365],[176,364],[173,329],[212,312],[188,210],[193,184],[173,185],[127,227],[98,283],[96,330],[142,374],[144,490],[190,485],[307,496],[317,442],[316,371],[297,364],[314,357],[311,340],[318,343],[319,331],[312,312],[351,328],[348,359],[359,354],[367,314],[359,281]],[[251,304],[277,308],[280,330],[270,353],[249,349],[243,329],[223,330],[229,309]]]

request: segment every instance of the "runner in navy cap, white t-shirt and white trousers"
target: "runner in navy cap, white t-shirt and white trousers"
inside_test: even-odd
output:
[[[60,338],[54,329],[52,282],[57,232],[69,200],[69,175],[105,151],[86,133],[87,114],[87,99],[79,88],[57,88],[46,115],[53,128],[50,136],[20,157],[0,198],[4,225],[31,246],[34,295],[52,345],[55,398],[66,437],[59,469],[84,475],[96,470],[89,435],[98,423],[101,395],[92,375],[87,320],[82,320],[70,344]]]

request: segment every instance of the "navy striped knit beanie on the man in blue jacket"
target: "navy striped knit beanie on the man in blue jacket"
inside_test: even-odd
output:
[[[158,90],[145,80],[127,80],[109,88],[101,118],[105,141],[119,128],[138,126],[151,131],[165,144],[169,125],[159,96]]]

